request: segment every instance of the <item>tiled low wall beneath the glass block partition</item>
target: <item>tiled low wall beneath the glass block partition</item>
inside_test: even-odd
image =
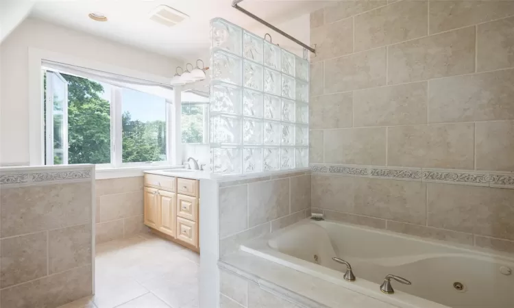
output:
[[[310,216],[310,172],[219,183],[219,251]]]

